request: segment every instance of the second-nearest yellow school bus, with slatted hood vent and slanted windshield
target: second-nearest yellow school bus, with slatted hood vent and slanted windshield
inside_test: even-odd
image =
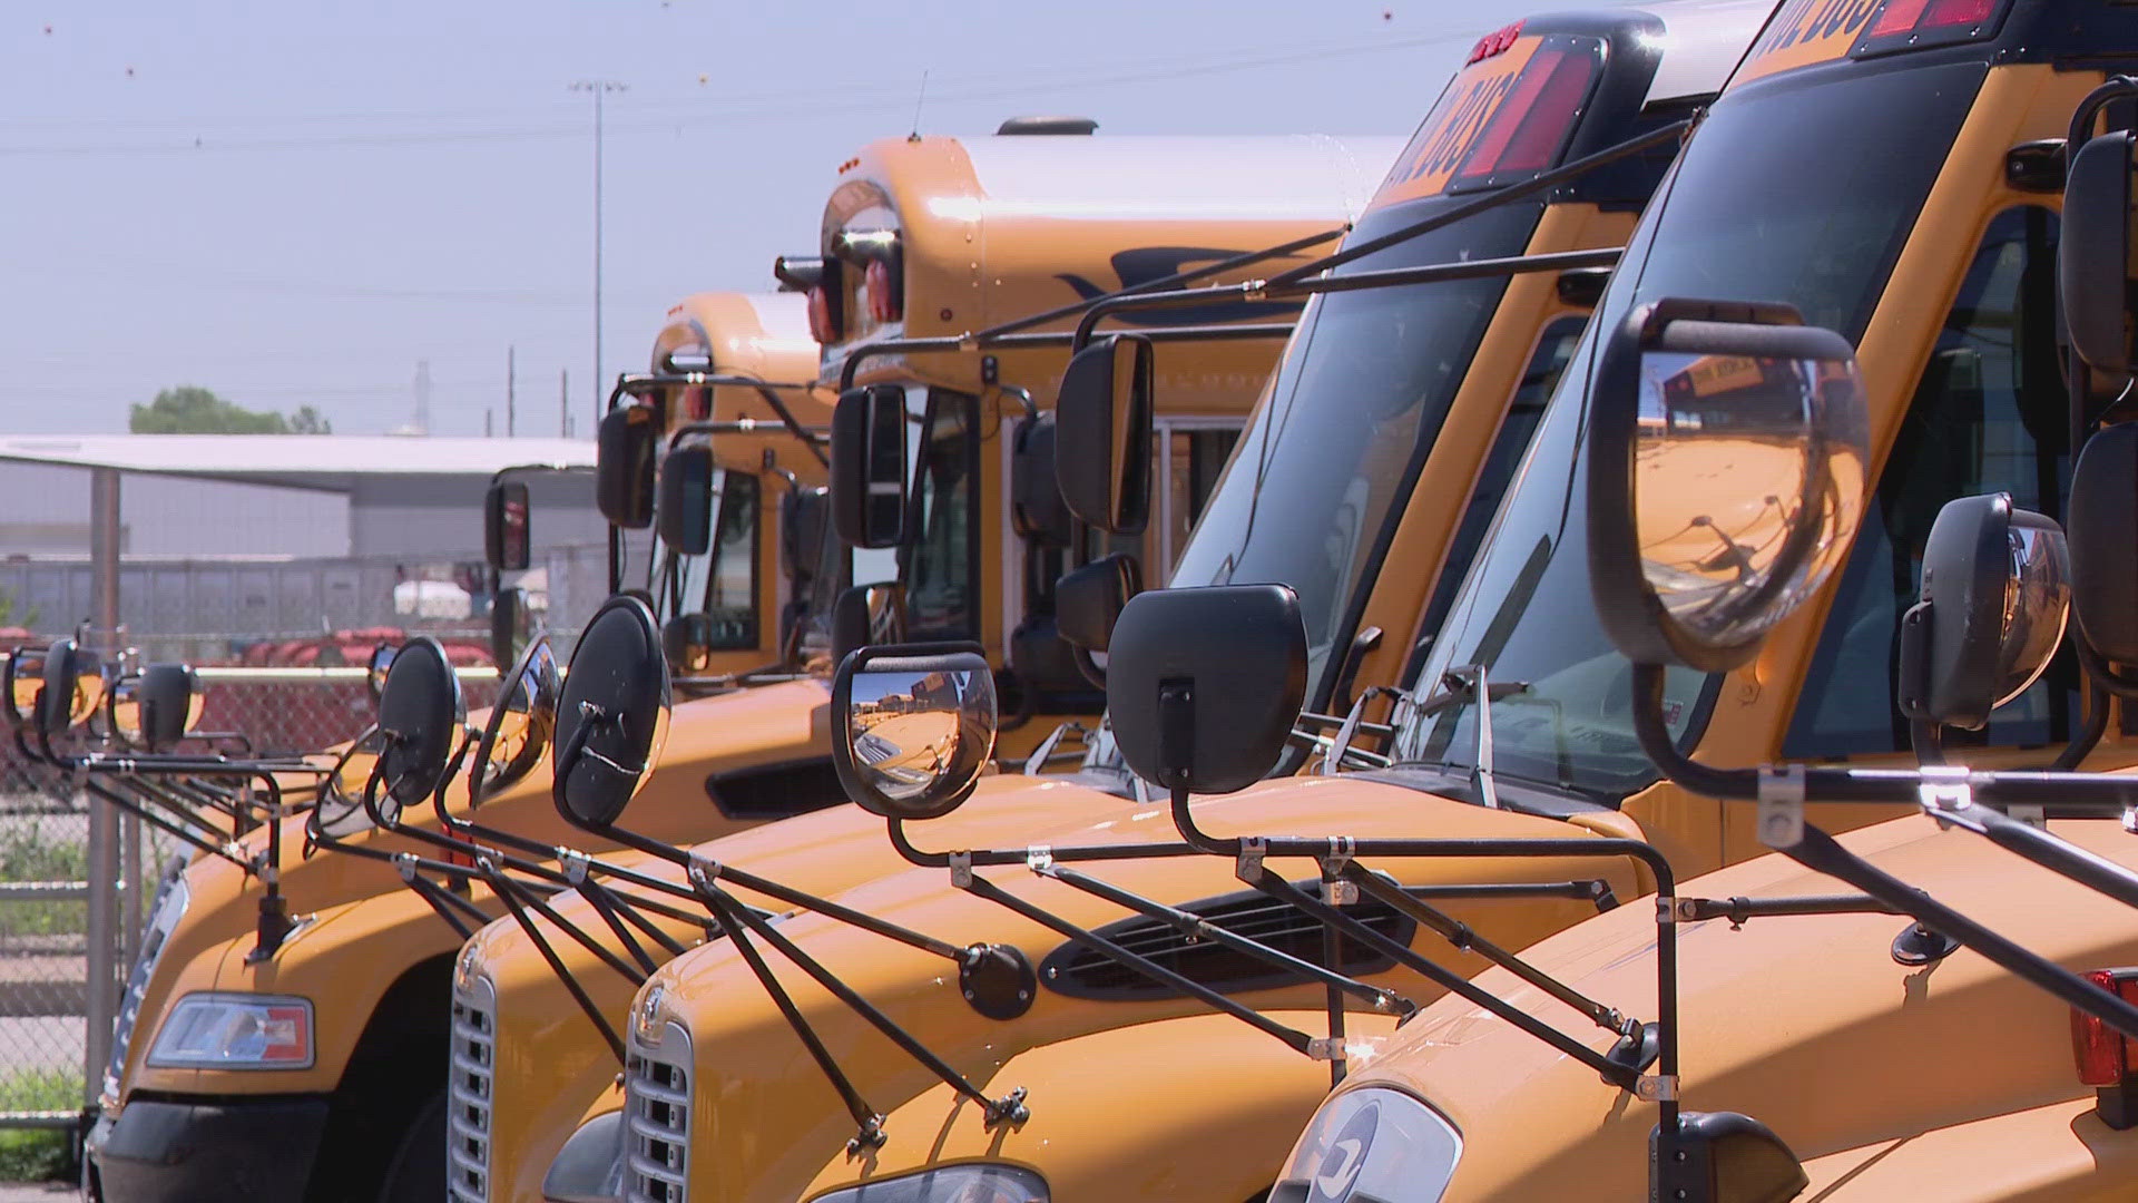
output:
[[[1527,197],[1518,195],[1507,208],[1486,208],[1467,223],[1422,233],[1415,244],[1398,244],[1396,250],[1381,248],[1385,244],[1377,240],[1475,203],[1488,188],[1535,180],[1546,167],[1668,126],[1719,88],[1757,17],[1751,6],[1539,17],[1482,45],[1347,242],[1379,250],[1362,257],[1353,272],[1614,246],[1668,163],[1668,148],[1644,163],[1612,158],[1625,165],[1623,173],[1595,178],[1576,171],[1569,178],[1586,180],[1593,191],[1580,182],[1546,180],[1544,186],[1567,184],[1565,193],[1552,195],[1552,203],[1520,203]],[[1680,41],[1672,43],[1670,32]],[[1683,58],[1672,73],[1672,54],[1678,51]],[[1571,81],[1552,90],[1535,81],[1512,88],[1533,62],[1541,77],[1565,71]],[[1509,109],[1482,103],[1479,109],[1477,96],[1514,96],[1520,103]],[[1544,96],[1552,105],[1544,105]],[[1591,96],[1608,103],[1591,105]],[[1497,113],[1509,113],[1509,122],[1494,133]],[[1539,124],[1527,126],[1522,137],[1518,131],[1529,113],[1537,113]],[[1546,148],[1541,158],[1529,158],[1539,154],[1539,143]],[[1492,150],[1471,158],[1475,148]],[[1518,150],[1520,156],[1501,158]],[[1465,163],[1473,171],[1465,173]],[[1646,178],[1636,163],[1646,167]],[[1454,287],[1454,280],[1426,276],[1388,293],[1347,291],[1315,302],[1279,368],[1274,398],[1251,424],[1182,554],[1176,582],[1298,582],[1313,649],[1308,689],[1319,704],[1336,698],[1336,709],[1343,709],[1345,691],[1405,679],[1420,636],[1430,634],[1420,627],[1435,608],[1432,587],[1400,569],[1381,576],[1383,563],[1432,565],[1467,557],[1467,548],[1462,548],[1465,533],[1469,539],[1482,535],[1535,420],[1533,409],[1522,413],[1522,422],[1512,424],[1512,445],[1494,450],[1501,415],[1512,400],[1527,400],[1529,407],[1541,400],[1537,392],[1548,390],[1548,381],[1537,381],[1537,392],[1520,390],[1527,368],[1539,366],[1535,375],[1550,377],[1580,330],[1584,276],[1563,276],[1561,270],[1571,265],[1565,259],[1539,263],[1550,270],[1531,268],[1514,283],[1505,274],[1520,270],[1501,268],[1490,287]],[[1554,332],[1559,317],[1571,321]],[[1563,342],[1548,334],[1559,334]],[[1405,349],[1407,357],[1388,357],[1390,347]],[[1405,405],[1413,396],[1415,407]],[[1462,407],[1460,420],[1452,405]],[[1475,505],[1475,524],[1465,520],[1467,503]],[[1383,631],[1398,634],[1383,634],[1381,644],[1360,638],[1362,614],[1388,614]],[[1099,792],[1107,788],[1118,794]],[[1604,807],[1593,813],[1524,816],[1422,796],[1400,781],[1349,775],[1264,786],[1227,807],[1225,818],[1272,833],[1311,831],[1332,816],[1353,820],[1353,828],[1396,828],[1405,818],[1417,820],[1420,807],[1430,811],[1426,822],[1477,835],[1565,833],[1569,820],[1576,833],[1618,835],[1631,828],[1629,820]],[[1163,807],[1142,801],[1133,781],[1095,764],[1075,781],[981,781],[966,811],[911,828],[911,839],[939,850],[1007,841],[1133,843],[1155,828],[1163,831]],[[832,835],[830,822],[817,820],[800,820],[797,831]],[[830,871],[817,869],[800,846],[772,848],[768,837],[774,835],[746,833],[699,852],[721,865],[830,888]],[[857,843],[862,837],[840,833],[840,839]],[[1499,869],[1477,861],[1441,865],[1439,871],[1443,875],[1432,884],[1456,890],[1499,882]],[[1479,888],[1475,901],[1452,905],[1467,920],[1488,925],[1494,938],[1527,942],[1593,914],[1599,890],[1633,897],[1653,888],[1629,865],[1576,873],[1554,863],[1535,871],[1586,880],[1522,901],[1482,901],[1490,890]],[[1016,873],[979,869],[975,875],[1018,897],[1028,895],[1073,925],[1099,927],[1122,918],[1120,910],[1052,882],[1026,884]],[[1144,897],[1204,912],[1219,925],[1255,929],[1270,918],[1270,908],[1244,897],[1223,865],[1144,858],[1110,863],[1107,878]],[[738,895],[748,897],[748,890],[738,888]],[[855,1115],[853,1098],[842,1098],[821,1062],[812,1064],[817,1057],[768,1000],[746,965],[748,957],[723,940],[671,961],[639,991],[629,1012],[633,1049],[626,1087],[622,1096],[603,1092],[586,1102],[582,1135],[588,1141],[603,1130],[614,1135],[620,1122],[631,1124],[629,1160],[622,1162],[631,1175],[626,1194],[684,1190],[688,1197],[795,1199],[845,1192],[881,1177],[885,1190],[924,1190],[917,1197],[947,1190],[943,1197],[958,1197],[960,1190],[1026,1188],[1037,1175],[1054,1199],[1101,1192],[1249,1199],[1274,1179],[1279,1152],[1272,1141],[1261,1156],[1242,1156],[1240,1126],[1291,1130],[1326,1090],[1328,1066],[1298,1057],[1266,1032],[1199,1015],[1202,1000],[1180,989],[1152,989],[1133,970],[1122,972],[1103,957],[1080,959],[1073,940],[1065,942],[1033,918],[971,897],[941,869],[883,875],[849,886],[836,901],[960,946],[1018,950],[1037,978],[1033,998],[1024,1000],[1031,1006],[988,1019],[960,998],[960,980],[945,972],[939,953],[812,914],[780,925],[787,940],[834,968],[907,1034],[960,1072],[990,1083],[990,1096],[1028,1085],[1028,1115],[1009,1126],[992,1124],[969,1096],[941,1085],[934,1068],[902,1053],[845,1004],[810,987],[808,978],[778,968],[795,1006],[832,1049],[840,1077],[866,1102],[866,1113]],[[1195,970],[1204,974],[1197,985],[1279,1010],[1313,1008],[1319,998],[1319,989],[1281,991],[1281,980],[1272,983],[1255,965],[1242,970],[1223,957],[1199,961],[1199,940],[1182,938],[1163,923],[1129,923],[1122,940],[1155,950],[1167,963],[1208,965]],[[1313,938],[1283,923],[1264,935],[1293,953]],[[475,991],[485,989],[492,950],[511,944],[517,935],[496,929],[470,944]],[[1424,983],[1411,980],[1405,989],[1430,995]],[[475,1006],[483,1004],[475,1000]],[[513,1023],[509,1006],[500,1004],[498,1017],[500,1030]],[[1364,1019],[1360,1027],[1370,1032],[1375,1021]],[[1116,1053],[1129,1053],[1131,1062],[1116,1060]],[[502,1066],[517,1055],[500,1045],[496,1060]],[[1127,1070],[1129,1064],[1135,1068]],[[676,1083],[686,1083],[686,1090]],[[1122,1122],[1118,1111],[1125,1090],[1135,1092],[1133,1124]],[[654,1105],[659,1115],[648,1111]],[[881,1122],[872,1124],[872,1117]],[[648,1120],[665,1128],[648,1128]],[[494,1111],[494,1122],[507,1122],[505,1109]],[[851,1158],[849,1139],[855,1141]],[[983,1169],[954,1169],[1007,1147],[1020,1162],[1011,1175],[1016,1182],[988,1179]],[[571,1145],[564,1152],[571,1154]],[[1137,1167],[1144,1177],[1122,1188],[1112,1179],[1120,1164]],[[558,1169],[564,1169],[562,1162]],[[926,1177],[934,1171],[949,1173]]]

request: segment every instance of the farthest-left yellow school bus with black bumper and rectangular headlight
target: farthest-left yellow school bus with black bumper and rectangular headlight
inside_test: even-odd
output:
[[[712,435],[725,520],[716,522],[721,537],[706,554],[648,559],[667,565],[676,582],[669,604],[680,604],[682,584],[691,582],[693,597],[688,606],[678,606],[682,612],[718,604],[731,625],[744,627],[744,638],[714,653],[725,661],[708,659],[680,670],[678,679],[778,666],[780,614],[800,589],[780,554],[787,535],[780,518],[791,509],[783,497],[821,488],[821,447],[812,447],[810,439],[821,437],[830,417],[810,387],[817,345],[808,338],[806,302],[789,293],[693,295],[667,315],[652,360],[652,372],[635,387],[663,402],[667,430],[678,439],[706,439],[703,430],[688,430],[701,409],[725,424]],[[701,383],[706,379],[750,383],[708,385]],[[789,417],[808,439],[791,432]],[[821,505],[815,512],[821,522]],[[470,529],[475,524],[470,516]],[[774,672],[785,674],[791,670]],[[706,730],[695,719],[678,724],[671,749],[678,771],[661,803],[684,824],[673,831],[699,824],[703,779],[725,764],[718,738],[731,734],[731,724]],[[359,846],[410,850],[406,839],[368,831],[361,807],[348,801],[359,792],[361,781],[344,798],[327,803],[334,811],[321,816],[331,820],[327,828]],[[543,773],[534,773],[487,798],[483,820],[558,841],[569,828],[545,792]],[[464,801],[466,794],[453,792],[455,807]],[[410,813],[408,822],[425,824],[430,816]],[[265,837],[254,835],[242,854],[254,856],[263,848]],[[336,1132],[340,1115],[374,1109],[383,1098],[378,1092],[406,1081],[402,1070],[391,1068],[396,1057],[436,1064],[436,1057],[421,1062],[425,1040],[443,1057],[443,1032],[432,1017],[445,998],[445,970],[425,968],[425,961],[443,965],[458,940],[445,940],[451,933],[436,918],[436,931],[421,931],[419,940],[398,940],[391,925],[389,935],[372,938],[361,918],[366,905],[393,899],[387,910],[398,910],[406,895],[400,875],[391,863],[376,858],[310,854],[306,816],[284,822],[282,848],[280,890],[297,927],[278,948],[265,948],[272,955],[257,955],[261,942],[250,933],[261,899],[257,875],[220,858],[201,858],[171,890],[184,901],[160,914],[165,935],[154,942],[156,959],[137,968],[126,998],[124,1012],[133,1023],[115,1040],[103,1113],[90,1139],[86,1186],[92,1192],[184,1197],[233,1175],[265,1197],[299,1197],[306,1184],[319,1188],[325,1182],[368,1184],[363,1190],[376,1194],[393,1190],[393,1182],[406,1190],[413,1179],[421,1184],[415,1190],[425,1192],[436,1182],[434,1156],[419,1167],[410,1162],[415,1154],[400,1152],[408,1143],[406,1115],[359,1120],[361,1139],[353,1145],[342,1145]],[[289,976],[297,957],[329,976],[316,987],[297,985]],[[425,989],[436,998],[425,1000]],[[265,1006],[261,995],[274,995],[274,1006],[297,1008],[274,1015],[304,1015],[301,1055],[246,1062],[233,1053],[205,1066],[158,1064],[156,1038],[173,1015],[244,1023],[269,1015],[259,1010]],[[188,998],[195,1000],[190,1006]],[[381,1141],[396,1152],[381,1154]]]

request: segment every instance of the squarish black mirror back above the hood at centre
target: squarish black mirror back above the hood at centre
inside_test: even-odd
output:
[[[1157,589],[1120,610],[1105,711],[1129,768],[1165,790],[1229,794],[1285,756],[1306,700],[1306,625],[1283,584]]]

